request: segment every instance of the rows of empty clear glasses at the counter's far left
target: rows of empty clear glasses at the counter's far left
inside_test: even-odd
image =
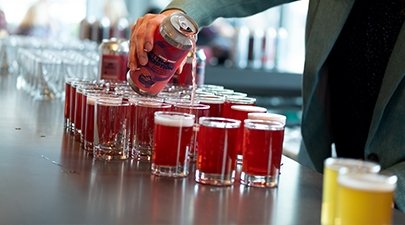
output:
[[[34,99],[63,98],[67,79],[94,80],[98,75],[96,43],[11,35],[1,46],[2,68],[18,75],[17,88]]]

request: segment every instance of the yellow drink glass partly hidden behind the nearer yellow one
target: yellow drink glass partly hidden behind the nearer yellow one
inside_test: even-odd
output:
[[[322,225],[335,224],[337,178],[339,170],[378,173],[380,166],[376,163],[356,159],[328,158],[324,163],[322,191]]]

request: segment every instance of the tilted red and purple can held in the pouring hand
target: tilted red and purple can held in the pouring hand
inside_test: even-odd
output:
[[[127,74],[131,87],[141,95],[157,95],[195,46],[197,31],[195,21],[183,13],[165,18],[154,34],[148,63]]]

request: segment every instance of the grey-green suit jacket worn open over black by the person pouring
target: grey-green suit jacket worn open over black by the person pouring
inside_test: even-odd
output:
[[[320,172],[323,170],[324,160],[331,156],[332,143],[328,120],[328,74],[325,60],[342,30],[354,1],[310,0],[308,8],[302,84],[303,145],[299,152],[299,161]],[[182,9],[195,18],[200,26],[205,26],[217,17],[252,15],[287,2],[292,1],[174,0],[168,8]],[[364,151],[365,159],[378,161],[384,172],[398,176],[396,204],[402,211],[405,211],[404,76],[405,25],[402,26],[385,71]]]

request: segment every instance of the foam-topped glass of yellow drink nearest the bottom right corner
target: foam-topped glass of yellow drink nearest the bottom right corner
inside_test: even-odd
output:
[[[336,225],[391,224],[396,176],[349,173],[338,178]]]

